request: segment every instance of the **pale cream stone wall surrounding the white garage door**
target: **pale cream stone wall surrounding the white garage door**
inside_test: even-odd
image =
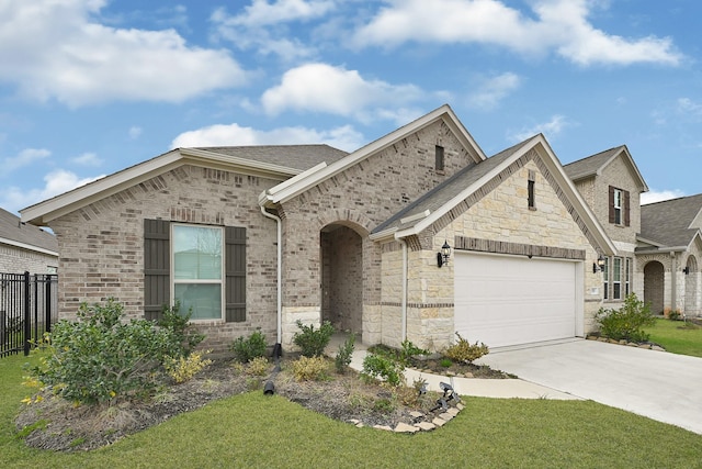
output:
[[[537,163],[535,152],[526,155],[510,168],[511,176],[479,200],[473,201],[464,213],[439,227],[429,239],[423,239],[421,249],[409,253],[407,337],[418,346],[441,349],[454,339],[453,263],[439,269],[435,256],[444,241],[448,239],[455,246],[455,239],[460,236],[530,246],[584,249],[584,327],[585,332],[593,330],[592,317],[602,304],[601,273],[592,273],[597,253],[552,187],[551,176],[544,177],[543,168]],[[526,203],[529,170],[536,174],[536,210],[529,210]],[[383,254],[384,304],[398,298],[397,291],[401,287],[401,270],[395,273],[398,256],[401,269],[401,252],[392,248],[393,244],[388,244]],[[386,270],[385,267],[392,269]],[[384,344],[396,346],[401,340],[399,311],[400,304],[383,306]]]

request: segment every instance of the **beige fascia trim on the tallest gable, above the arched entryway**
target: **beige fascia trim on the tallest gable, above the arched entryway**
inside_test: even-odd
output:
[[[485,153],[483,153],[483,149],[473,139],[461,121],[458,121],[458,118],[455,115],[451,107],[449,104],[444,104],[441,108],[438,108],[430,113],[424,114],[421,118],[410,122],[409,124],[404,125],[374,142],[371,142],[370,144],[356,149],[355,152],[327,166],[326,168],[322,168],[321,170],[314,171],[305,176],[301,175],[301,177],[296,181],[291,182],[283,189],[280,189],[279,187],[270,189],[267,193],[268,200],[273,203],[281,203],[291,200],[298,194],[309,190],[310,188],[317,186],[321,181],[325,181],[344,171],[353,165],[356,165],[358,163],[405,138],[407,135],[410,135],[426,127],[427,125],[432,124],[439,119],[443,120],[443,122],[461,141],[462,145],[464,145],[468,149],[468,153],[471,154],[475,163],[487,159]]]

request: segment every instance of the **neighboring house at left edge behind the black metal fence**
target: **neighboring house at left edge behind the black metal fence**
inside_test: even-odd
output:
[[[0,272],[56,273],[56,236],[0,209]]]

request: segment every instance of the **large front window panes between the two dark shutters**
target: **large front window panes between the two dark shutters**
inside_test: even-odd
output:
[[[192,320],[222,319],[220,227],[172,226],[173,295]]]

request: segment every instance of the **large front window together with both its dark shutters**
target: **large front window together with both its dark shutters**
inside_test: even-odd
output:
[[[246,228],[144,220],[144,315],[181,300],[193,320],[246,321]]]

